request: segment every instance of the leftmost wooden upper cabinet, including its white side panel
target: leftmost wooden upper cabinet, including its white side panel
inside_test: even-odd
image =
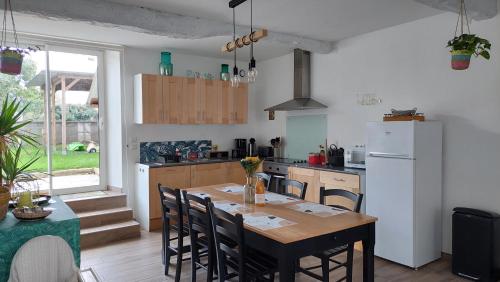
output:
[[[161,76],[136,75],[134,77],[134,100],[136,123],[164,123]]]

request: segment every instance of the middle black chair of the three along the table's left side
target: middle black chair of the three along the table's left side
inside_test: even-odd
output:
[[[207,282],[213,280],[213,270],[217,259],[214,250],[212,223],[208,213],[210,198],[200,198],[182,191],[188,218],[189,238],[191,239],[191,281],[196,281],[196,271],[207,271]],[[193,206],[194,205],[194,206]],[[201,261],[207,257],[207,263]]]

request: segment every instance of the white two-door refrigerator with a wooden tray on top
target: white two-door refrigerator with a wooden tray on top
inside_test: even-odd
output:
[[[370,122],[366,213],[378,218],[375,255],[412,268],[441,257],[442,124]]]

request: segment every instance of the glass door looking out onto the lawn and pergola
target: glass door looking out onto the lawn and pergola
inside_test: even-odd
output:
[[[21,145],[18,166],[31,163],[24,184],[56,195],[104,190],[102,52],[38,46],[20,75],[0,73],[0,103],[26,107],[22,130],[36,140]]]

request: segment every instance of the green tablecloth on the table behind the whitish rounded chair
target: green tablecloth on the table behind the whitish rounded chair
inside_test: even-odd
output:
[[[58,197],[48,205],[54,211],[39,221],[19,221],[11,212],[0,221],[0,282],[9,279],[10,265],[17,250],[28,240],[42,236],[60,236],[73,250],[76,265],[80,266],[80,219]],[[43,254],[40,254],[43,257]]]

